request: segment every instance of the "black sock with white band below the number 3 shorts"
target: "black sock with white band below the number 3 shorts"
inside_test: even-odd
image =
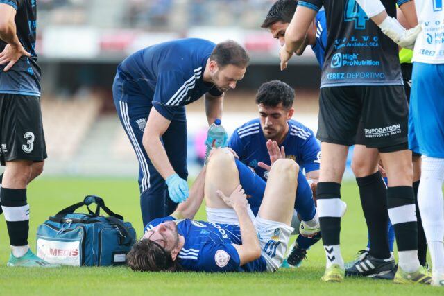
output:
[[[4,207],[10,245],[28,245],[29,206],[26,202],[26,189],[2,188],[0,200]]]

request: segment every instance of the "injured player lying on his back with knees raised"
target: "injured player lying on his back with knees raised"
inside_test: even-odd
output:
[[[138,271],[278,270],[293,232],[298,164],[291,159],[272,164],[257,216],[240,185],[237,165],[230,150],[214,150],[189,199],[171,216],[148,223],[128,253],[128,266]],[[204,191],[208,222],[191,220]]]

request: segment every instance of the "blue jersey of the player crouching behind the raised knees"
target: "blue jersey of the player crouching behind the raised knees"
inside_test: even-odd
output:
[[[289,120],[289,132],[280,146],[284,146],[287,158],[296,161],[305,173],[319,169],[321,148],[314,133],[298,121]],[[267,139],[262,132],[259,119],[248,121],[237,128],[228,141],[228,146],[236,151],[239,160],[255,170],[257,175],[266,180],[266,172],[257,166],[259,162],[270,163],[266,148]]]

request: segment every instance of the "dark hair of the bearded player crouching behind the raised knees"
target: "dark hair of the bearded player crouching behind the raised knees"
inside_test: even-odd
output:
[[[282,107],[290,109],[293,106],[294,89],[280,80],[272,80],[259,87],[256,94],[256,104],[266,107],[276,107],[282,103]]]

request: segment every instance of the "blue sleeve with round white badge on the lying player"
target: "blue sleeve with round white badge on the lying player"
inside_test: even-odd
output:
[[[241,263],[237,250],[229,243],[202,246],[197,261],[197,270],[205,272],[236,271]]]

